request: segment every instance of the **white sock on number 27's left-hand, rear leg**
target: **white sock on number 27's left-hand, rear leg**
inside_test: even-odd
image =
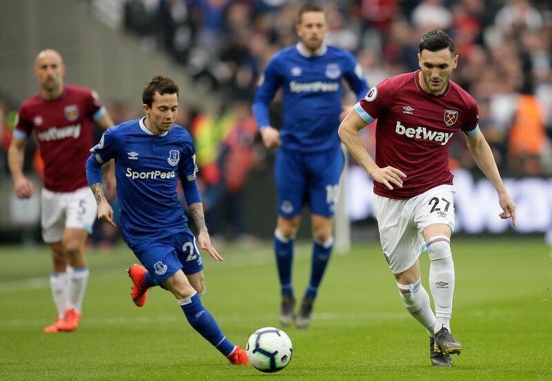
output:
[[[400,284],[399,293],[401,295],[402,304],[406,310],[424,326],[428,335],[433,337],[433,327],[435,326],[435,315],[431,311],[429,295],[426,289],[422,286],[422,279],[419,278],[413,284]]]

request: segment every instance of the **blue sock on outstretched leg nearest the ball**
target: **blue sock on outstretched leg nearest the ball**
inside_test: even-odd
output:
[[[180,304],[190,325],[193,326],[201,336],[213,344],[223,355],[228,356],[232,353],[235,345],[226,338],[224,333],[222,333],[213,315],[204,309],[197,293],[190,297],[186,297],[186,299],[179,300],[178,304]]]

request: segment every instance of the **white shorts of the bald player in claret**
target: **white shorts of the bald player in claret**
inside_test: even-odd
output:
[[[42,239],[47,244],[60,242],[66,228],[84,229],[92,233],[98,206],[90,188],[55,193],[42,189]]]

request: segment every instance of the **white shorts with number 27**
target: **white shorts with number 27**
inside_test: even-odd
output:
[[[380,241],[393,274],[408,270],[420,257],[424,228],[446,224],[454,231],[455,192],[452,185],[440,185],[411,199],[374,195]]]

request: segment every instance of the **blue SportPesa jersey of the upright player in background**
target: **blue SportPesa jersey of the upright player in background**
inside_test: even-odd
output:
[[[257,125],[270,126],[268,105],[282,87],[282,148],[301,152],[336,148],[341,144],[337,128],[342,111],[342,79],[348,81],[357,99],[368,92],[362,68],[350,52],[326,46],[320,55],[309,56],[300,43],[280,50],[259,79],[253,101]]]

